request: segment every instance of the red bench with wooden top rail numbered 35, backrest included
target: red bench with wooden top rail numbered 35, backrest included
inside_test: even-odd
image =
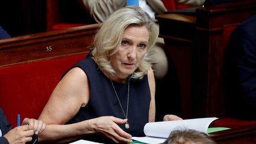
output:
[[[62,75],[88,55],[98,26],[0,40],[0,107],[12,127],[18,114],[39,117]]]

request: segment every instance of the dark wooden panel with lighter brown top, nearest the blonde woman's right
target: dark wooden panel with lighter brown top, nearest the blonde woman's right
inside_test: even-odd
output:
[[[180,79],[181,95],[183,95],[183,118],[191,117],[192,65],[194,43],[193,35],[196,17],[183,14],[159,15],[160,36],[165,40],[166,51],[174,62]],[[185,95],[185,97],[184,97]]]

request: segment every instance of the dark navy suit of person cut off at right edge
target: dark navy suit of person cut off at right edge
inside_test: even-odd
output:
[[[256,15],[232,33],[226,68],[228,112],[241,119],[256,120]]]

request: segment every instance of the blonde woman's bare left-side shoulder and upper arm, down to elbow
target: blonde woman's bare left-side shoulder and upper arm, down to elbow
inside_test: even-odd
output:
[[[39,119],[48,124],[64,124],[87,105],[88,100],[87,75],[81,68],[72,68],[53,90]]]

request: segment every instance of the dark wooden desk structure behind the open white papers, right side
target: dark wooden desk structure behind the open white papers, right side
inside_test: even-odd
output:
[[[178,71],[184,119],[225,116],[223,61],[229,36],[254,14],[256,1],[242,1],[197,8],[194,15],[156,17]]]

